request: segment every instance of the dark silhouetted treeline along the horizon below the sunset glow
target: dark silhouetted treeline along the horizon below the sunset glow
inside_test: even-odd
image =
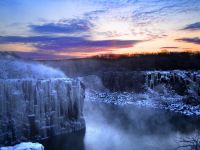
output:
[[[109,55],[67,60],[43,60],[63,70],[68,76],[101,74],[107,71],[135,70],[200,70],[200,53],[159,53],[141,55]]]

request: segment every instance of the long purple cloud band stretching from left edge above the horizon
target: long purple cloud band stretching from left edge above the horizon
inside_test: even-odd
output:
[[[88,40],[84,37],[51,37],[51,36],[0,36],[0,44],[24,43],[32,44],[39,50],[75,51],[97,48],[128,48],[140,40]]]

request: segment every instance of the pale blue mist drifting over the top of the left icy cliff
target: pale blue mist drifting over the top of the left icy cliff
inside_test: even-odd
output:
[[[58,69],[40,64],[33,61],[25,61],[10,56],[0,59],[0,78],[1,79],[46,79],[46,78],[64,78],[65,74]]]

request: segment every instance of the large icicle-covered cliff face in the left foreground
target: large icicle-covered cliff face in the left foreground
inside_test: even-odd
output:
[[[84,87],[79,80],[0,79],[0,143],[85,128]]]

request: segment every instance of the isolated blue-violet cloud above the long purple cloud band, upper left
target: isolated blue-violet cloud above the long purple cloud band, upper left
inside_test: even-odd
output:
[[[78,33],[86,32],[92,24],[85,19],[61,20],[58,23],[47,23],[43,25],[30,25],[33,32],[37,33]]]

